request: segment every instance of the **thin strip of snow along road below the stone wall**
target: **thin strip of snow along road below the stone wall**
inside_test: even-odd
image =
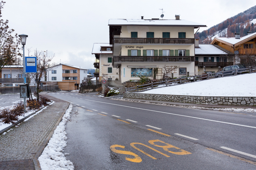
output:
[[[151,103],[148,101],[136,101],[136,100],[130,100],[130,99],[118,99],[118,98],[112,98],[111,100],[122,100],[122,101],[130,101],[130,102],[136,102],[136,103],[148,103],[148,104],[154,104],[154,105],[162,105],[162,106],[172,106],[172,107],[185,107],[185,108],[193,108],[193,109],[204,109],[204,110],[215,110],[215,111],[228,111],[228,112],[247,112],[247,113],[256,113],[256,109],[240,109],[240,108],[210,108],[210,107],[198,107],[198,106],[182,106],[182,105],[170,105],[165,103]]]

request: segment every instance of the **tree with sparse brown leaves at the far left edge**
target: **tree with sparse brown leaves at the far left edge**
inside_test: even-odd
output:
[[[21,56],[19,52],[20,38],[16,33],[12,35],[14,30],[8,26],[8,20],[4,21],[2,17],[2,9],[5,2],[0,2],[0,70],[5,65],[12,65],[16,62],[17,56]]]

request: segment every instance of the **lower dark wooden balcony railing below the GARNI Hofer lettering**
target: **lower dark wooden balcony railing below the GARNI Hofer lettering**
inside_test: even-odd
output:
[[[113,62],[194,62],[195,56],[114,56]]]

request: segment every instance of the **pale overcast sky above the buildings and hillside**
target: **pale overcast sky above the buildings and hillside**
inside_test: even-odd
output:
[[[108,19],[160,18],[163,8],[164,19],[180,14],[209,28],[254,5],[255,0],[9,0],[2,15],[15,33],[28,35],[26,48],[48,50],[56,63],[92,69],[93,43],[109,43]]]

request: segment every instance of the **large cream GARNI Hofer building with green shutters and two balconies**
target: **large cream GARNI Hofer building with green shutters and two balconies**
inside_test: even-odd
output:
[[[171,73],[180,77],[197,72],[194,30],[205,25],[181,20],[180,15],[173,20],[109,19],[108,25],[112,66],[118,70],[121,82],[139,76],[153,78],[154,70],[157,79],[170,77]]]

